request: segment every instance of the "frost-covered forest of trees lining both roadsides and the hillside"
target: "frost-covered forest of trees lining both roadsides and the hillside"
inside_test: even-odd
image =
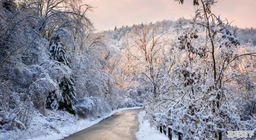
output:
[[[184,139],[256,131],[256,29],[214,15],[216,2],[194,0],[192,19],[95,32],[80,0],[2,0],[0,133],[49,135],[124,106]]]

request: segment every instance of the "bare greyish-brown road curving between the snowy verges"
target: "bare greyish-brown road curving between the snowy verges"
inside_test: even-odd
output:
[[[63,140],[136,140],[138,113],[143,109],[117,112],[99,123]]]

